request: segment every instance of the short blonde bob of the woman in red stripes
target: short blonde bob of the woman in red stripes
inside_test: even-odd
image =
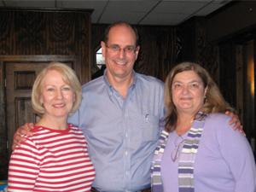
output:
[[[70,85],[73,89],[73,93],[75,95],[75,102],[73,103],[73,108],[69,112],[69,117],[75,113],[81,104],[82,101],[82,87],[79,83],[79,79],[76,73],[73,71],[71,67],[68,67],[66,64],[61,62],[51,62],[49,66],[45,67],[44,70],[38,74],[37,79],[35,80],[32,87],[32,108],[34,113],[37,113],[38,116],[42,117],[45,113],[44,106],[40,103],[40,96],[42,90],[42,84],[44,82],[44,76],[49,71],[55,70],[58,73],[61,73],[61,77],[63,81]]]

